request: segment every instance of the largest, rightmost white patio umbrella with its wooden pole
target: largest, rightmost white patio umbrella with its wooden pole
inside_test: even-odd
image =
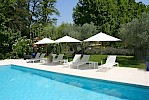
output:
[[[112,37],[110,35],[107,35],[105,33],[100,32],[100,33],[98,33],[98,34],[96,34],[96,35],[94,35],[94,36],[84,40],[84,42],[87,42],[87,41],[92,41],[92,42],[93,41],[99,41],[99,42],[101,42],[101,49],[100,49],[100,51],[101,51],[101,56],[100,57],[101,58],[100,58],[100,62],[102,64],[102,42],[121,41],[121,39],[118,39],[118,38],[115,38],[115,37]]]

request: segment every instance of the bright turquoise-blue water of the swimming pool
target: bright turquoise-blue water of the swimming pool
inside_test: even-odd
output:
[[[7,65],[0,100],[149,100],[149,87]]]

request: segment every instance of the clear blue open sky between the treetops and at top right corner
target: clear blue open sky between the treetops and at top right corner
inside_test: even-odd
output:
[[[60,12],[60,16],[57,18],[57,26],[62,22],[73,23],[72,13],[73,8],[77,5],[79,0],[57,0],[56,8]],[[142,2],[149,5],[149,0],[135,0],[136,2]]]

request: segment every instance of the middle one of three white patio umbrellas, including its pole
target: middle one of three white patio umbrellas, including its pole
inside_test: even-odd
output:
[[[72,37],[70,37],[70,36],[64,36],[64,37],[62,37],[62,38],[59,38],[59,39],[55,40],[55,43],[66,43],[66,45],[67,45],[67,43],[69,43],[69,42],[75,43],[75,42],[81,42],[81,41],[80,41],[80,40],[77,40],[77,39],[75,39],[75,38],[72,38]],[[66,48],[66,52],[68,52],[67,48]],[[67,54],[67,53],[66,53],[66,54]],[[67,57],[67,59],[68,59],[68,54],[66,55],[66,57]]]

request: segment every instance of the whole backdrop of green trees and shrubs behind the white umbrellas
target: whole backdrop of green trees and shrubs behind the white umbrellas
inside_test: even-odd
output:
[[[1,0],[0,57],[9,53],[23,57],[24,52],[31,53],[32,49],[28,48],[37,47],[33,43],[43,37],[56,40],[69,35],[84,40],[101,31],[121,37],[127,47],[135,48],[135,54],[140,50],[143,56],[146,55],[149,23],[148,15],[141,14],[149,12],[149,6],[135,0],[79,0],[73,10],[74,24],[55,26],[56,18],[53,15],[59,16],[56,1]],[[69,46],[74,51],[77,51],[77,47],[85,51],[88,44],[72,43]],[[58,53],[64,50],[63,44],[56,50]]]

